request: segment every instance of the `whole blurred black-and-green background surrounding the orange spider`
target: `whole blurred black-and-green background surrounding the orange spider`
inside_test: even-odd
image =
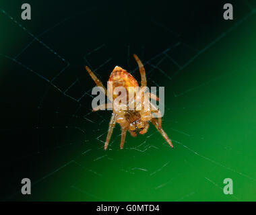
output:
[[[255,201],[256,5],[229,2],[228,21],[225,1],[28,1],[26,21],[1,3],[1,200]],[[91,112],[84,65],[140,80],[133,53],[165,87],[174,149],[152,125],[123,150],[117,125],[103,149],[110,112]]]

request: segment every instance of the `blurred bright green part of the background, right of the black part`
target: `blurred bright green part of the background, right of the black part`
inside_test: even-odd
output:
[[[191,86],[205,73],[216,74],[217,79],[195,89],[187,87],[191,91],[177,97],[172,92],[179,90],[179,81],[172,86],[166,81],[166,106],[170,110],[164,115],[163,128],[174,149],[151,126],[148,134],[153,135],[147,142],[160,150],[102,151],[98,157],[115,159],[96,162],[100,167],[94,168],[102,177],[92,177],[88,184],[88,175],[81,176],[75,190],[70,191],[71,200],[255,201],[256,34],[247,27],[254,25],[255,19],[250,19],[179,76],[185,80],[191,73],[187,80]],[[120,132],[116,130],[113,136]],[[137,146],[143,140],[128,136],[125,146]],[[119,138],[112,146],[119,147]],[[90,161],[88,157],[79,159],[79,163]],[[233,180],[232,196],[223,193],[225,178]]]

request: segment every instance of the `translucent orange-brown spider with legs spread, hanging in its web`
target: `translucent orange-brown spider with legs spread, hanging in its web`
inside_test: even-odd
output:
[[[172,146],[172,142],[162,129],[160,110],[150,102],[150,98],[156,101],[159,101],[159,98],[153,93],[146,91],[147,80],[145,69],[137,55],[134,54],[133,56],[139,65],[139,72],[141,74],[140,89],[136,79],[130,73],[127,73],[127,71],[121,67],[115,67],[113,72],[110,74],[107,91],[102,82],[96,77],[96,75],[94,75],[90,68],[86,66],[86,70],[96,85],[98,85],[98,87],[102,87],[106,95],[111,95],[110,103],[99,105],[94,108],[94,111],[97,111],[106,109],[107,107],[113,107],[113,114],[109,122],[108,135],[106,136],[104,149],[106,150],[108,147],[108,143],[116,123],[119,123],[121,126],[120,148],[122,149],[123,144],[125,143],[127,130],[130,132],[131,136],[137,136],[137,131],[139,131],[139,134],[145,134],[149,128],[149,121],[156,126],[156,129],[160,134],[162,134],[164,139],[170,146]],[[119,89],[119,91],[116,93],[117,89]],[[125,91],[125,95],[132,96],[122,99],[120,96],[122,95],[122,90]],[[157,116],[157,118],[154,116]]]

